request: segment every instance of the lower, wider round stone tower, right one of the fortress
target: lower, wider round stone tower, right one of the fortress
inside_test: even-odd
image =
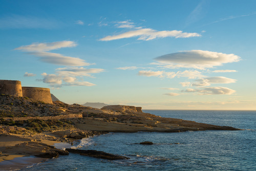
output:
[[[23,97],[52,104],[50,89],[39,87],[22,87]]]

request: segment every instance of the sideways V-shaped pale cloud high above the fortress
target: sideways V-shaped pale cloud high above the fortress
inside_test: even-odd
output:
[[[56,41],[50,43],[34,43],[32,45],[21,46],[14,50],[28,52],[31,55],[40,57],[39,60],[47,63],[62,66],[89,66],[92,63],[87,63],[83,59],[63,56],[58,53],[48,52],[60,48],[75,47],[77,44],[74,41]]]

